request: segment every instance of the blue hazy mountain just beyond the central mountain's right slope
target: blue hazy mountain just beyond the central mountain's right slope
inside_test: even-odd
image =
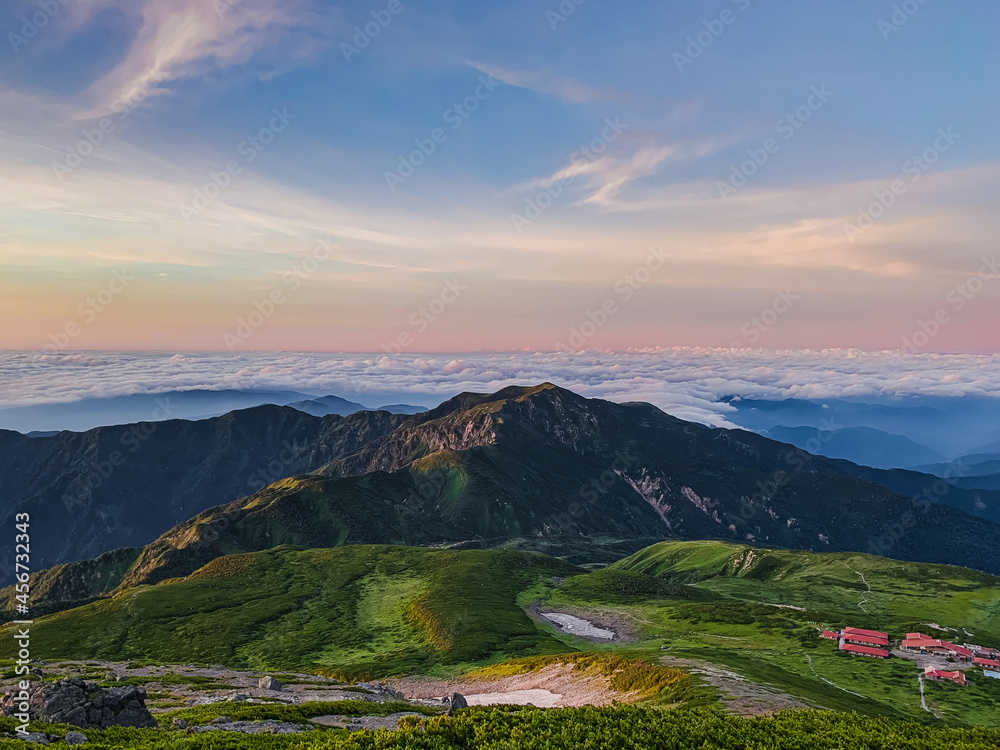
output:
[[[877,469],[896,469],[945,459],[926,445],[871,427],[844,427],[833,432],[817,430],[815,427],[779,426],[764,430],[761,434],[821,456],[846,458],[856,464]],[[822,439],[818,439],[818,436]]]

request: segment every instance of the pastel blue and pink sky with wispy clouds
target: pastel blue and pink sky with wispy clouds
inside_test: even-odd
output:
[[[998,32],[995,0],[6,0],[0,349],[1000,352]]]

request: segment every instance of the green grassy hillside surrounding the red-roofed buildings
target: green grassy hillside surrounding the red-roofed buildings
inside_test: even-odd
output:
[[[1000,724],[1000,681],[970,672],[966,689],[928,684],[930,710],[924,710],[919,669],[912,661],[851,657],[838,651],[836,642],[818,638],[818,626],[853,625],[897,637],[920,629],[1000,646],[1000,579],[964,568],[851,553],[666,542],[567,579],[552,589],[547,604],[628,623],[639,643],[626,648],[658,653],[667,665],[721,666],[807,705]],[[934,631],[927,623],[956,630]]]

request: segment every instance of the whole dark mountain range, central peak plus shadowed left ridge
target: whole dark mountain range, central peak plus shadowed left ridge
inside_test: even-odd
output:
[[[995,516],[996,493],[547,383],[412,416],[265,406],[146,427],[0,433],[2,491],[18,498],[5,515],[29,510],[46,529],[39,567],[67,563],[42,574],[36,596],[85,600],[282,544],[507,546],[583,563],[722,539],[1000,572],[1000,525],[947,504]],[[67,500],[67,478],[102,461],[108,476]],[[938,484],[948,492],[934,495]]]

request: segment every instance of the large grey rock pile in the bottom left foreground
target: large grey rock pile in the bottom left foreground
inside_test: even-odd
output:
[[[72,677],[53,683],[36,682],[28,692],[28,713],[39,721],[83,729],[157,725],[146,708],[146,691],[136,685],[107,689]],[[0,700],[0,710],[8,716],[14,713],[13,693]]]

